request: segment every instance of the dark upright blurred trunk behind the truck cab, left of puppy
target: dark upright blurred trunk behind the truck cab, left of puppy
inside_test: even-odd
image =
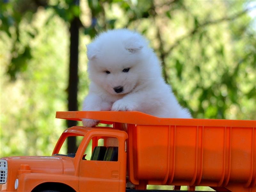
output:
[[[79,0],[74,0],[79,5]],[[68,111],[77,111],[77,87],[78,87],[78,41],[79,18],[75,17],[70,23],[70,56],[69,56],[69,80],[68,80]],[[76,126],[76,121],[67,121],[68,127]],[[77,150],[76,138],[68,138],[68,153]]]

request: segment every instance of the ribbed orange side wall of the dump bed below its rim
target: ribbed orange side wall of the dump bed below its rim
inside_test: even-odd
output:
[[[239,184],[255,190],[254,127],[137,125],[128,126],[128,137],[130,179],[135,184]]]

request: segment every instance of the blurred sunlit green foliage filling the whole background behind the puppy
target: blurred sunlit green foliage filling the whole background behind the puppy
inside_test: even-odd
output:
[[[67,109],[68,27],[74,17],[81,22],[80,109],[89,83],[85,44],[101,31],[127,27],[149,39],[166,81],[193,117],[256,118],[255,18],[244,11],[250,1],[4,2],[1,157],[50,155],[65,128],[54,114]]]

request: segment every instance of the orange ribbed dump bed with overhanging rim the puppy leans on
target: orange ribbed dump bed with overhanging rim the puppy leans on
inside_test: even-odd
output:
[[[135,185],[188,185],[256,191],[256,121],[157,118],[140,112],[57,112],[127,128]],[[121,123],[121,124],[120,124]]]

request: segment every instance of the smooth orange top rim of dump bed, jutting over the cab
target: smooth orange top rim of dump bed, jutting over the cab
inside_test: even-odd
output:
[[[138,111],[57,111],[56,118],[75,121],[82,121],[83,118],[98,119],[106,124],[116,122],[140,125],[256,127],[255,120],[159,118]]]

